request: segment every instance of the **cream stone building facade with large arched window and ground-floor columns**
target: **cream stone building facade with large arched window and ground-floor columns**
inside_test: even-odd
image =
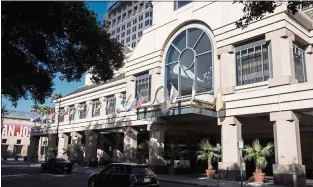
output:
[[[59,123],[34,128],[32,149],[49,136],[48,147],[59,156],[70,143],[85,146],[86,160],[136,161],[139,142],[148,140],[147,162],[156,169],[167,164],[171,139],[195,151],[209,138],[222,146],[220,177],[237,180],[237,141],[260,139],[275,147],[267,175],[277,184],[304,186],[313,169],[312,17],[301,11],[290,15],[281,6],[238,29],[241,4],[160,1],[152,6],[153,24],[121,74],[56,101]],[[179,97],[164,110],[164,93],[173,87]],[[136,93],[145,103],[123,110],[123,98],[132,101]],[[210,105],[217,93],[223,100],[218,112]],[[72,159],[79,155],[72,152]],[[252,171],[246,163],[244,173]]]

